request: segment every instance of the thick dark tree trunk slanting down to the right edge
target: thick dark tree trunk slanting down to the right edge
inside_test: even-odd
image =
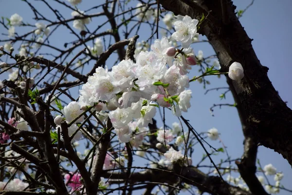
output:
[[[267,76],[268,68],[256,57],[250,39],[237,19],[231,0],[159,0],[161,5],[175,14],[188,15],[200,20],[200,26],[218,55],[222,71],[228,71],[234,61],[240,62],[245,77],[240,81],[227,78],[235,90],[247,125],[256,142],[280,153],[292,165],[292,110],[279,97]]]

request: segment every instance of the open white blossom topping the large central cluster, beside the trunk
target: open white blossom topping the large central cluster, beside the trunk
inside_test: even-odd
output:
[[[193,19],[189,16],[183,17],[183,20],[174,22],[174,28],[176,32],[172,34],[172,38],[181,41],[183,48],[188,48],[197,33],[198,20]]]

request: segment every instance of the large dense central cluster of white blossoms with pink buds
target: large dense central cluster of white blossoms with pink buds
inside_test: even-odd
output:
[[[197,29],[192,29],[191,35],[196,34]],[[157,106],[171,108],[177,117],[187,112],[192,92],[186,90],[189,87],[186,74],[195,60],[192,48],[179,51],[166,37],[157,39],[151,51],[138,54],[136,63],[122,60],[111,72],[98,67],[82,86],[78,103],[80,107],[109,110],[119,140],[128,142],[128,124],[135,120],[139,128],[147,127]]]

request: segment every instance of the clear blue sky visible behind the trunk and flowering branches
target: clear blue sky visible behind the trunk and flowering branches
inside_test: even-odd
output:
[[[50,1],[52,0],[49,0],[48,2]],[[38,6],[39,2],[31,2],[36,3],[36,6],[44,15],[51,15],[50,11],[44,9],[44,7]],[[234,4],[237,5],[237,10],[244,9],[250,2],[251,0],[234,0]],[[78,8],[80,10],[85,10],[91,6],[92,1],[83,0],[82,4],[78,6]],[[9,18],[12,14],[18,13],[23,17],[23,21],[32,22],[31,19],[33,14],[31,10],[27,12],[28,9],[27,4],[20,0],[0,0],[0,16]],[[280,97],[284,101],[288,101],[288,106],[290,108],[292,108],[292,66],[290,59],[292,56],[291,9],[292,0],[255,0],[254,5],[251,6],[240,19],[249,37],[254,39],[253,47],[256,51],[258,59],[262,65],[267,66],[270,69],[268,72],[270,80],[272,81],[275,89],[279,92]],[[67,18],[71,17],[71,11],[60,11]],[[96,25],[98,25],[101,20],[93,20],[92,22],[95,22]],[[32,24],[34,24],[34,22],[32,22]],[[21,29],[21,27],[17,27],[17,32],[18,29]],[[23,30],[19,32],[23,33]],[[63,48],[63,43],[72,38],[71,35],[64,32],[65,31],[60,30],[56,35],[54,35],[50,39],[51,43],[57,46],[59,45]],[[6,34],[7,32],[1,27],[0,34],[2,33]],[[145,30],[140,31],[140,33],[142,38],[149,37],[149,32],[146,28]],[[0,39],[3,38],[5,37],[0,35]],[[200,37],[200,39],[205,38]],[[139,39],[139,41],[141,40],[142,39]],[[204,52],[204,57],[214,54],[212,48],[207,43],[194,44],[193,48],[195,51],[202,50]],[[77,51],[75,51],[75,53],[77,53]],[[198,76],[198,69],[196,69],[196,67],[191,71],[190,77],[195,75]],[[7,78],[7,75],[0,75],[1,80],[5,78]],[[216,77],[208,79],[211,82],[209,88],[227,86],[224,77],[221,77],[220,79]],[[220,93],[216,91],[209,92],[207,95],[204,95],[205,90],[202,88],[202,85],[197,82],[191,83],[190,89],[193,91],[193,98],[191,102],[192,107],[184,116],[187,119],[190,119],[192,125],[198,132],[206,132],[208,129],[216,127],[221,133],[221,139],[228,147],[227,150],[229,155],[232,156],[232,158],[240,157],[243,152],[243,135],[236,109],[229,107],[222,107],[221,109],[215,108],[215,117],[212,117],[209,112],[209,108],[214,103],[234,103],[231,94],[227,95],[226,100],[220,100]],[[166,123],[169,125],[171,125],[172,121],[178,121],[170,113],[166,116]],[[162,125],[161,122],[159,124]],[[281,130],[279,129],[279,131]],[[211,143],[215,148],[221,147],[221,143],[218,141],[209,141],[209,143]],[[198,155],[198,158],[196,155]],[[226,158],[224,155],[221,156],[223,159]],[[201,147],[196,146],[195,155],[193,156],[193,161],[195,164],[198,160],[200,160],[201,156]],[[260,146],[258,158],[260,159],[262,165],[272,163],[277,168],[277,171],[283,172],[285,176],[282,180],[282,184],[287,188],[290,187],[289,185],[292,180],[292,169],[289,163],[283,159],[282,156],[270,149]],[[219,159],[215,159],[219,162]],[[140,162],[140,160],[137,160],[135,163]],[[273,177],[269,178],[271,183],[274,184]],[[284,191],[280,192],[280,195],[289,194],[290,193]]]

